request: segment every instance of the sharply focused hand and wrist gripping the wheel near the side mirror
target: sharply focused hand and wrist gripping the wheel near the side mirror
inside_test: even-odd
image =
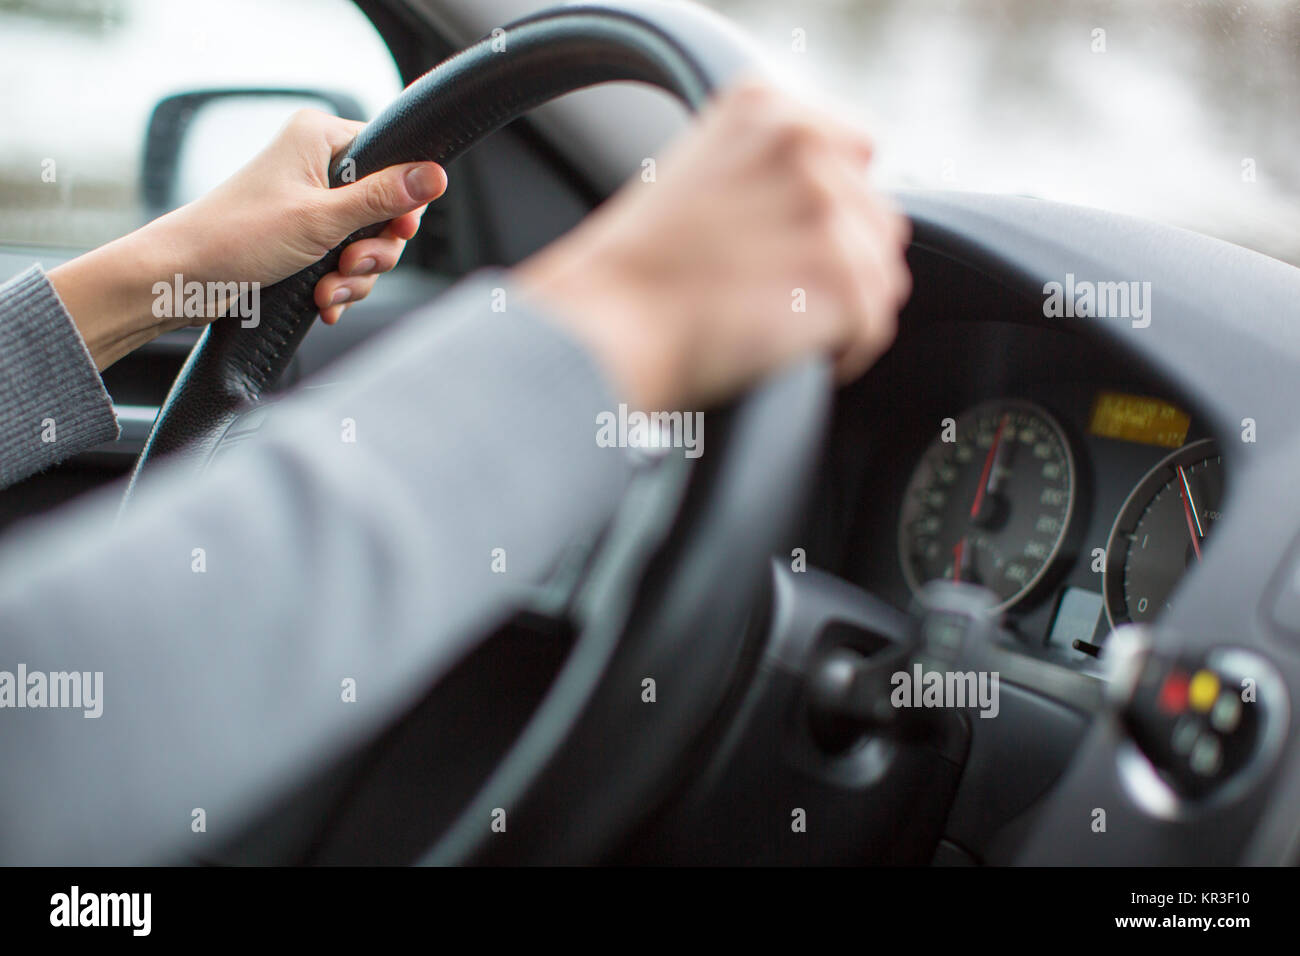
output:
[[[200,199],[130,235],[64,263],[49,281],[99,368],[144,342],[209,315],[159,316],[159,282],[278,282],[321,259],[363,226],[387,222],[348,246],[316,285],[321,317],[337,323],[396,265],[425,206],[447,189],[437,163],[407,163],[329,187],[329,168],[361,124],[304,109],[248,165]]]

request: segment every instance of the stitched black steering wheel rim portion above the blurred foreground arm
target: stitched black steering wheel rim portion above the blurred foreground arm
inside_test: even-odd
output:
[[[638,81],[698,109],[710,91],[755,64],[724,20],[690,5],[640,0],[573,5],[520,20],[445,60],[408,86],[332,166],[330,185],[399,163],[451,163],[507,122],[556,96]],[[260,321],[218,319],[177,373],[133,470],[124,503],[162,458],[202,467],[230,423],[281,378],[317,316],[316,284],[358,230],[316,264],[261,290]]]

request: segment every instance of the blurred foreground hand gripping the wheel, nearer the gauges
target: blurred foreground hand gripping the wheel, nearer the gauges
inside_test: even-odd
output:
[[[655,182],[625,186],[516,281],[641,408],[710,405],[815,351],[855,377],[911,290],[910,226],[868,186],[870,159],[861,133],[742,83]]]

